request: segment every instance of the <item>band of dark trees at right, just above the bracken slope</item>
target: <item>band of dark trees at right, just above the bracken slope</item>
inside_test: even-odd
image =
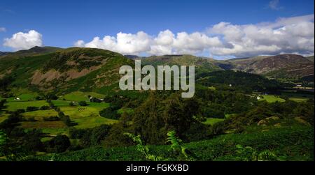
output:
[[[241,112],[235,116],[225,119],[225,121],[216,123],[211,127],[213,135],[221,135],[225,130],[235,130],[243,132],[246,126],[258,123],[268,117],[279,119],[298,119],[304,124],[314,126],[314,100],[307,102],[295,102],[286,100],[286,102],[258,102],[255,107]]]

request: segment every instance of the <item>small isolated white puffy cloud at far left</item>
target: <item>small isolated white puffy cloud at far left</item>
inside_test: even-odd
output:
[[[27,50],[34,46],[42,46],[43,40],[41,33],[30,30],[28,33],[18,32],[11,38],[4,38],[3,46],[11,47],[14,50]]]

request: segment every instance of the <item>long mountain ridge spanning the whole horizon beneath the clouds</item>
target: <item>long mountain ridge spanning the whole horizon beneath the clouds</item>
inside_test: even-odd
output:
[[[296,54],[222,61],[188,54],[123,56],[94,48],[32,47],[18,52],[0,52],[0,78],[6,75],[15,77],[15,86],[104,93],[117,90],[120,66],[134,66],[134,59],[141,59],[142,65],[195,66],[196,75],[240,70],[275,79],[314,77],[314,56]]]

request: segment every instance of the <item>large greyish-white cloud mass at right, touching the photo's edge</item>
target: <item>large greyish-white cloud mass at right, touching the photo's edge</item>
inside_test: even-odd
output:
[[[212,48],[214,55],[314,54],[314,15],[280,18],[276,22],[236,25],[221,22],[209,33],[232,47]]]

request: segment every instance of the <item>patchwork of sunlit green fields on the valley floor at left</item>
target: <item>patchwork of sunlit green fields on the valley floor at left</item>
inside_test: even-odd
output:
[[[109,103],[106,102],[88,102],[88,97],[97,97],[104,98],[102,94],[99,93],[83,93],[83,92],[73,92],[66,94],[62,97],[65,100],[52,100],[52,103],[59,107],[64,114],[69,115],[71,121],[76,123],[75,128],[94,128],[102,124],[113,124],[117,120],[106,119],[102,116],[99,116],[99,111],[109,107]],[[5,108],[1,112],[0,122],[7,119],[9,114],[6,114],[6,111],[16,111],[17,109],[27,109],[27,107],[42,107],[49,106],[48,102],[45,100],[34,100],[36,94],[26,93],[20,94],[21,100],[14,100],[14,98],[7,98]],[[60,99],[60,98],[59,98]],[[31,101],[28,101],[31,100]],[[81,107],[78,105],[80,100],[87,101],[87,106]],[[70,106],[69,103],[74,101],[75,106]],[[124,110],[121,109],[120,112]],[[131,112],[132,109],[125,109],[127,112]],[[59,135],[65,134],[68,135],[69,127],[67,127],[62,121],[44,121],[45,117],[49,116],[58,116],[58,113],[55,109],[48,110],[36,110],[32,112],[25,112],[22,114],[26,120],[35,119],[36,121],[22,121],[20,123],[21,128],[31,129],[31,128],[40,128],[43,132],[49,135]],[[50,137],[45,137],[45,139],[50,139]]]

